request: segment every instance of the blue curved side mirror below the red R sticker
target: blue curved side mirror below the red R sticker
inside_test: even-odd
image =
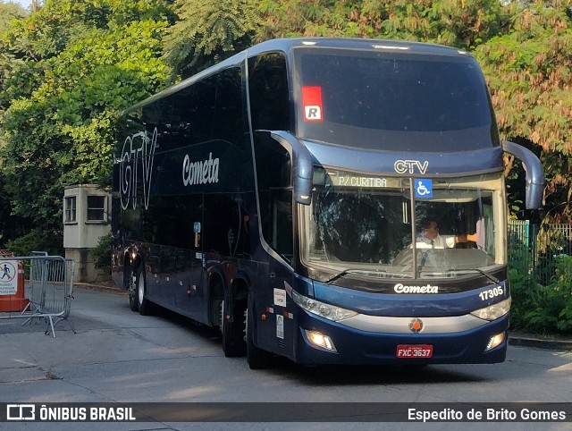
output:
[[[303,205],[310,205],[314,178],[312,155],[306,146],[288,131],[271,131],[270,136],[290,153],[294,200]]]

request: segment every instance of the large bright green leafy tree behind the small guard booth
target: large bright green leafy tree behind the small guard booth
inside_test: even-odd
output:
[[[4,34],[22,62],[0,99],[4,191],[29,228],[61,231],[65,185],[110,183],[117,115],[168,76],[170,3],[46,0]]]

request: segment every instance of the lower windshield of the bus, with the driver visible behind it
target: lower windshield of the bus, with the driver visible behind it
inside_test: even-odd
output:
[[[366,277],[455,277],[506,263],[500,173],[433,180],[416,199],[408,178],[328,170],[301,213],[310,269]],[[436,229],[433,240],[425,227]],[[412,241],[413,235],[416,241]],[[425,234],[427,237],[425,237]],[[319,277],[316,277],[319,278]]]

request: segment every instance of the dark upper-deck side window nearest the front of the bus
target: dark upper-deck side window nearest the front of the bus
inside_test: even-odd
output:
[[[252,129],[290,131],[286,58],[279,53],[248,59]]]

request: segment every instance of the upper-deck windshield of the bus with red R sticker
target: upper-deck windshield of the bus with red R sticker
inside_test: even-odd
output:
[[[402,151],[500,145],[473,57],[378,51],[296,50],[299,138]]]

